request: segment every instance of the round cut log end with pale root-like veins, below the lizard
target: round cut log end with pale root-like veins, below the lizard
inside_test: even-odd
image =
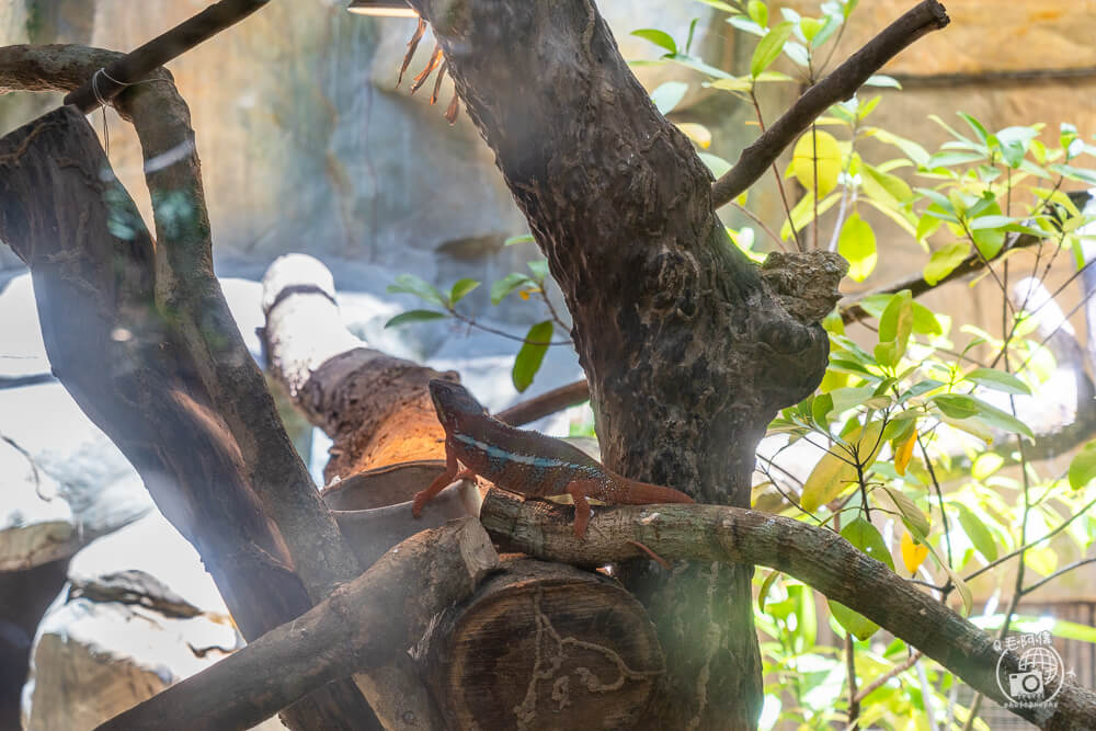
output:
[[[455,729],[632,729],[663,677],[647,612],[615,580],[511,558],[424,640]]]

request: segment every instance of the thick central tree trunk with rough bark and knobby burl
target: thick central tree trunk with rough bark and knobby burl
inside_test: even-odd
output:
[[[810,393],[827,342],[817,307],[844,273],[762,276],[716,217],[711,176],[651,104],[590,0],[411,0],[434,25],[574,318],[607,466],[747,506],[754,449]],[[786,262],[787,263],[787,262]],[[817,271],[815,271],[817,270]],[[800,292],[797,292],[797,287]],[[666,654],[654,728],[753,728],[762,699],[749,567],[624,579]]]

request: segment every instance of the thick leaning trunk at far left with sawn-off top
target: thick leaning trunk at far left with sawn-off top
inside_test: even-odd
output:
[[[31,267],[54,372],[194,544],[244,637],[310,606],[192,354],[153,305],[153,245],[94,133],[62,107],[0,140],[0,238]],[[104,205],[110,202],[110,207]],[[354,728],[343,682],[287,711]]]

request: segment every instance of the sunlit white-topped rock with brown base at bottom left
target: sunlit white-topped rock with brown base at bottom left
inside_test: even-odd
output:
[[[72,559],[34,638],[24,729],[92,729],[240,644],[197,552],[151,513]]]

